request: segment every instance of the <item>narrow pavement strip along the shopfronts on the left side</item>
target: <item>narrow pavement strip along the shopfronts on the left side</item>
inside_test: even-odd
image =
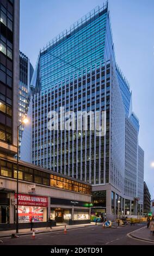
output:
[[[50,227],[46,228],[35,228],[35,234],[40,234],[40,233],[48,233],[48,232],[54,232],[54,231],[63,231],[64,230],[64,225],[65,224],[61,224],[61,225],[57,225],[56,227],[52,227],[52,229]],[[91,226],[95,226],[96,224],[94,222],[91,222],[89,224],[78,224],[78,225],[67,225],[66,224],[66,229],[77,229],[77,228],[85,228],[85,227],[91,227]],[[102,223],[97,223],[97,225],[101,225]],[[112,228],[117,228],[118,224],[113,222],[112,223]],[[28,229],[19,229],[19,233],[16,234],[16,230],[0,230],[0,238],[3,237],[9,237],[11,236],[11,234],[16,234],[16,235],[30,235],[32,234],[33,231],[31,231],[29,228]]]

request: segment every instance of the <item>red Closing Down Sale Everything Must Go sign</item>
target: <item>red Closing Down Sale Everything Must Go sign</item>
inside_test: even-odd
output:
[[[15,198],[17,198],[17,194],[15,194]],[[33,196],[31,194],[18,194],[18,204],[26,206],[48,207],[48,198]]]

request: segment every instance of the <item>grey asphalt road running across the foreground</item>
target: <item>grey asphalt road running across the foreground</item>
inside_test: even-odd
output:
[[[102,226],[85,227],[73,230],[50,233],[23,235],[16,239],[3,238],[2,245],[153,245],[149,242],[131,239],[128,233],[144,227],[145,224],[128,225],[127,227],[106,228]]]

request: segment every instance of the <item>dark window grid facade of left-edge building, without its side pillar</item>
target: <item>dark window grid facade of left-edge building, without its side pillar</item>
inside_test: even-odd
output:
[[[0,140],[13,143],[13,14],[12,1],[0,1]]]

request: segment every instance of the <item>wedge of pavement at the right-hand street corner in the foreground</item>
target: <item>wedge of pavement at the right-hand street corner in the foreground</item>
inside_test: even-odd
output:
[[[154,235],[152,236],[150,228],[142,227],[140,229],[132,231],[131,233],[128,234],[128,236],[134,239],[151,242],[154,245]]]

